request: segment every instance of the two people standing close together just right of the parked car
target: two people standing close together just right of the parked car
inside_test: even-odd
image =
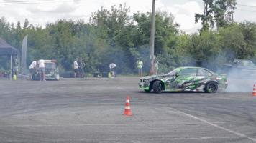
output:
[[[86,64],[83,62],[82,58],[76,58],[73,62],[73,69],[74,69],[74,77],[85,77],[84,67]]]

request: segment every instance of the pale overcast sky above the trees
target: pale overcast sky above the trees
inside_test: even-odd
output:
[[[124,3],[130,7],[130,15],[152,9],[152,0],[0,0],[0,17],[4,16],[14,24],[17,21],[23,24],[27,18],[35,26],[45,26],[58,19],[84,19],[88,22],[91,13],[101,9],[101,6],[110,9],[112,5]],[[256,22],[256,0],[237,0],[237,4],[235,21]],[[203,12],[202,0],[157,0],[156,9],[173,14],[180,30],[186,33],[201,27],[201,24],[195,24],[194,16]]]

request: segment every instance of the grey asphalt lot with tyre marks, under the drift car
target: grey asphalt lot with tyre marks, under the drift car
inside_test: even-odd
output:
[[[0,80],[0,142],[256,142],[252,91],[154,94],[138,80]]]

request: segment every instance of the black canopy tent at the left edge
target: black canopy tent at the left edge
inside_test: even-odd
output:
[[[18,49],[14,48],[13,46],[9,45],[4,41],[4,39],[0,38],[0,56],[10,56],[10,69],[11,69],[11,76],[12,79],[12,64],[14,56],[18,56],[19,51]]]

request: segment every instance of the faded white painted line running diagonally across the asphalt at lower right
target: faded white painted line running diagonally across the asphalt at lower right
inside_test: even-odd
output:
[[[218,124],[214,124],[214,123],[212,123],[212,122],[208,122],[208,121],[206,121],[205,119],[201,119],[201,118],[199,118],[199,117],[193,116],[192,114],[188,114],[188,113],[182,112],[182,111],[180,111],[180,110],[178,110],[178,109],[174,109],[174,108],[172,108],[172,107],[169,107],[169,108],[170,108],[170,109],[173,109],[173,110],[175,110],[175,111],[177,111],[177,112],[179,112],[180,114],[184,114],[184,115],[186,115],[187,117],[191,117],[191,118],[196,119],[196,120],[198,120],[198,121],[200,121],[200,122],[204,122],[204,123],[209,124],[209,125],[211,125],[211,126],[213,126],[213,127],[216,127],[216,128],[222,129],[222,130],[224,130],[224,131],[230,132],[230,133],[232,133],[232,134],[235,134],[235,135],[237,135],[238,137],[247,138],[247,139],[250,139],[250,140],[253,141],[253,142],[256,142],[256,139],[255,139],[255,138],[248,137],[248,136],[245,135],[245,134],[242,134],[242,133],[239,133],[239,132],[235,132],[235,131],[233,131],[232,129],[227,129],[227,128],[221,127],[221,126],[219,126]]]

